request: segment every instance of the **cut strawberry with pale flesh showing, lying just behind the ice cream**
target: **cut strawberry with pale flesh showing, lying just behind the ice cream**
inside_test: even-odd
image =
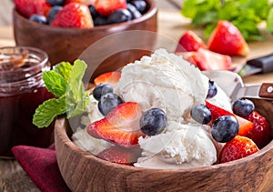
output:
[[[198,48],[197,52],[177,53],[200,70],[226,70],[231,67],[231,57],[220,55],[205,48]]]

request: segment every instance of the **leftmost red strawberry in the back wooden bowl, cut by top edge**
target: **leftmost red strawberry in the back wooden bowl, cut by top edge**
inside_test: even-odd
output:
[[[46,0],[15,0],[15,7],[25,17],[29,18],[31,15],[47,15],[51,5]]]

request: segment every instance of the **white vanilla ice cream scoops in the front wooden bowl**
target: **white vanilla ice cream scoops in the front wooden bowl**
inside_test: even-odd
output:
[[[124,66],[115,93],[125,102],[139,103],[143,112],[157,107],[167,114],[167,128],[161,134],[138,139],[143,152],[136,167],[203,167],[217,161],[217,147],[210,129],[197,124],[189,115],[193,106],[205,104],[207,90],[207,76],[181,56],[164,49]],[[88,116],[89,122],[94,122],[104,116],[97,110],[97,101],[92,97],[91,101]],[[231,110],[229,98],[220,87],[217,87],[217,96],[209,101]],[[78,128],[73,139],[95,155],[108,145],[106,141],[88,136],[82,128]]]

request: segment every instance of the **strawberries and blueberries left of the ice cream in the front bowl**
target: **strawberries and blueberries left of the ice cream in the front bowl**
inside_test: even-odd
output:
[[[139,147],[134,147],[138,146],[138,137],[155,136],[164,131],[167,115],[159,108],[151,108],[143,113],[136,102],[124,102],[114,93],[119,78],[119,72],[109,72],[95,78],[93,96],[98,101],[98,110],[105,117],[88,125],[87,133],[116,144],[97,157],[132,165],[140,155]]]

